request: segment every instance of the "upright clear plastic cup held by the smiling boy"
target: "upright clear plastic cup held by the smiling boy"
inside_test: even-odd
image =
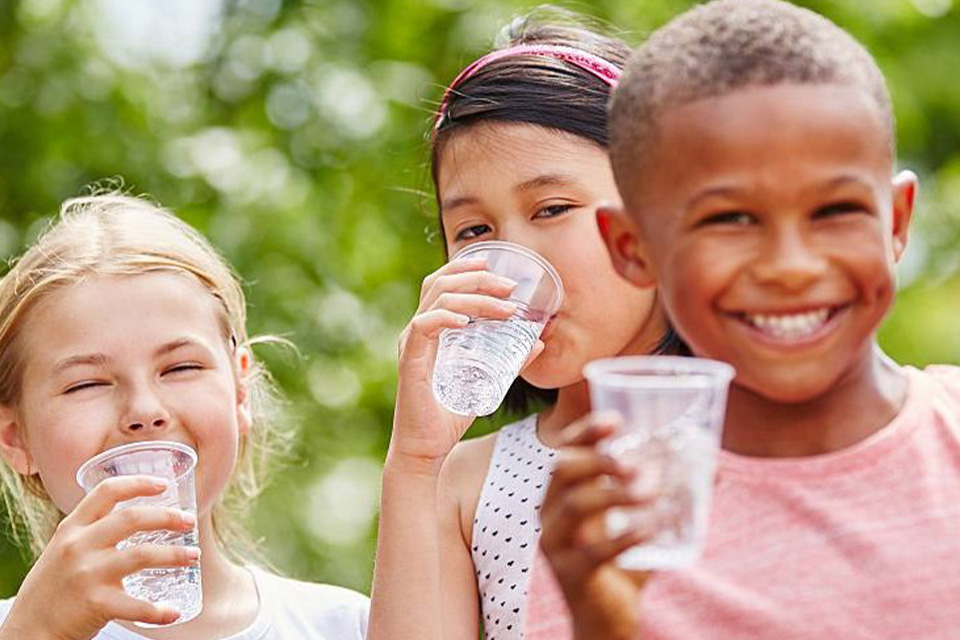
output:
[[[611,536],[650,537],[617,558],[627,569],[675,569],[693,564],[703,548],[734,370],[702,358],[636,356],[584,368],[595,411],[620,414],[621,430],[603,450],[635,467],[634,487],[653,504],[607,514]]]

